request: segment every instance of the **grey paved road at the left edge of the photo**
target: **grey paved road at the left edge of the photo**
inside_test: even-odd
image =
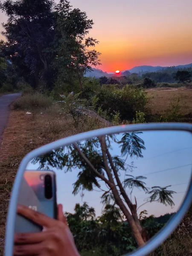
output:
[[[9,105],[11,105],[19,96],[21,96],[21,93],[12,93],[0,97],[0,145],[2,134],[9,118]]]

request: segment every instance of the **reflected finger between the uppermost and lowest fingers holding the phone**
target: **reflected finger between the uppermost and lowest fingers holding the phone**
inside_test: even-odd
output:
[[[15,234],[15,244],[38,244],[47,238],[46,232]]]

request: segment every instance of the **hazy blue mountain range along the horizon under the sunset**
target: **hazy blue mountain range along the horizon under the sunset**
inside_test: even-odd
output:
[[[189,67],[192,67],[192,63],[191,64],[186,64],[186,65],[178,65],[178,66],[175,66],[175,69],[183,69],[183,68],[189,68]],[[156,71],[161,71],[165,68],[168,68],[168,67],[162,67],[162,66],[147,66],[147,65],[143,65],[143,66],[137,66],[137,67],[133,67],[129,70],[123,70],[121,71],[121,76],[129,76],[131,75],[132,73],[147,73],[147,72],[156,72]],[[107,72],[104,72],[100,69],[96,69],[96,68],[93,68],[93,71],[87,71],[86,75],[87,77],[96,77],[96,78],[99,78],[101,76],[107,76],[107,77],[112,77],[112,76],[115,76],[116,74],[114,72],[110,72],[110,73],[107,73]]]

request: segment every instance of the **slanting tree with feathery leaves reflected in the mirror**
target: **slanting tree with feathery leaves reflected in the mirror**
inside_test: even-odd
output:
[[[152,187],[148,190],[143,181],[146,177],[126,175],[127,170],[133,170],[134,166],[127,164],[127,159],[132,157],[143,157],[145,143],[139,137],[141,132],[124,133],[120,140],[118,135],[106,135],[84,140],[73,145],[59,148],[38,157],[33,163],[40,163],[40,169],[47,169],[49,166],[64,169],[65,172],[72,172],[79,169],[77,180],[74,182],[73,194],[84,190],[93,191],[96,187],[103,191],[102,203],[109,209],[116,209],[115,205],[121,210],[127,219],[132,234],[138,244],[143,246],[148,241],[148,234],[142,227],[137,210],[137,200],[133,203],[131,195],[134,187],[143,189],[149,193],[150,198],[146,203],[158,201],[163,204],[174,205],[172,201],[173,191],[166,188]],[[120,156],[114,155],[115,148],[120,147]],[[125,172],[125,179],[120,177],[121,172]],[[103,189],[102,184],[107,189]],[[130,197],[125,189],[130,189]],[[107,209],[106,209],[107,210]],[[112,215],[111,215],[112,216]]]

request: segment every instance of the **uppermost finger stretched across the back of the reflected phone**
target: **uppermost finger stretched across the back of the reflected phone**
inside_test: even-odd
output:
[[[44,215],[41,212],[35,212],[23,205],[17,207],[17,213],[44,227],[54,227],[56,224],[55,220],[49,216]]]

